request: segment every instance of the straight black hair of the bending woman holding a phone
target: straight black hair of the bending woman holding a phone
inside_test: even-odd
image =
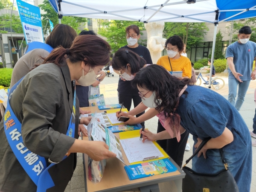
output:
[[[138,73],[138,71],[146,64],[145,59],[140,57],[137,53],[128,49],[119,49],[111,61],[114,70],[121,70],[127,64],[131,65],[131,74]]]

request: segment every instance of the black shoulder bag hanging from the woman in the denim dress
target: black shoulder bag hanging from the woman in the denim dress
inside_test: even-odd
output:
[[[199,145],[195,153],[186,160],[186,164],[189,163],[210,139],[207,138]],[[182,180],[182,192],[239,192],[236,181],[224,159],[222,148],[220,149],[220,153],[225,169],[218,174],[201,174],[186,167],[186,164],[183,166],[182,170],[186,173],[186,176]]]

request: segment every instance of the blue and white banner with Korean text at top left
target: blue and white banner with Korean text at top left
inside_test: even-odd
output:
[[[44,43],[40,9],[22,0],[17,0],[17,6],[26,43],[33,41]]]

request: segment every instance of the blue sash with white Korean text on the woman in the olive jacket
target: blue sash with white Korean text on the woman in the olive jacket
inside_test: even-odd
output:
[[[22,79],[20,79],[20,81]],[[47,167],[44,157],[40,157],[39,155],[29,151],[29,149],[25,147],[21,136],[21,123],[13,113],[12,108],[9,104],[12,93],[15,91],[20,81],[18,81],[9,92],[6,112],[3,117],[4,131],[6,133],[9,145],[12,148],[12,151],[15,154],[17,160],[20,162],[20,165],[23,167],[23,169],[26,171],[32,181],[36,184],[37,192],[46,192],[47,189],[55,186],[52,181],[52,177],[49,175],[48,172],[48,169],[54,166],[55,163],[51,163]],[[75,115],[76,89],[74,91],[73,108],[66,134],[69,137],[75,136]],[[62,160],[64,160],[68,156],[69,153],[67,153]]]

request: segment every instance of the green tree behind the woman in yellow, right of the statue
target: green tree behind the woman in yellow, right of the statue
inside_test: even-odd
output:
[[[205,23],[165,23],[163,36],[168,39],[178,35],[186,44],[186,48],[190,49],[204,42],[204,35],[208,30]]]

